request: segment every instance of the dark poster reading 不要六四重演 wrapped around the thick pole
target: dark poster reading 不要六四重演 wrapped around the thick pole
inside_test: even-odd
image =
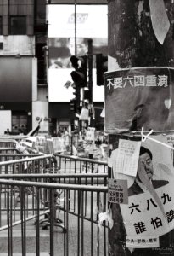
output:
[[[132,67],[104,74],[105,130],[172,130],[174,69]]]

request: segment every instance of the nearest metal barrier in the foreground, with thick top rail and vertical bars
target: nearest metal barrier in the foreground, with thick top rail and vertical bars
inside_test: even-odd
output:
[[[1,176],[0,184],[3,188],[5,186],[6,190],[3,190],[4,197],[2,198],[1,196],[1,203],[5,201],[6,207],[1,209],[2,227],[0,231],[4,232],[4,229],[8,228],[8,255],[13,255],[13,248],[15,247],[13,240],[16,224],[20,224],[21,247],[18,250],[22,255],[26,255],[28,251],[27,234],[31,229],[31,225],[33,232],[35,232],[36,256],[42,255],[42,247],[40,247],[42,232],[47,232],[45,242],[47,242],[47,252],[51,256],[108,254],[108,228],[105,224],[100,228],[98,227],[98,212],[106,211],[107,187],[41,182],[41,179],[55,181],[55,178],[63,178],[65,180],[70,175],[23,174],[15,175],[15,177],[14,175],[9,175],[8,178],[10,180],[2,179],[2,177],[4,176]],[[12,181],[12,177],[22,179],[23,181]],[[90,178],[93,180],[94,177],[99,178],[103,176],[101,174],[77,175],[78,180],[81,178]],[[106,178],[106,175],[103,178]],[[24,181],[25,179],[30,181]],[[33,179],[37,180],[37,182],[31,182]],[[14,207],[16,188],[20,190],[20,205],[17,209]],[[28,194],[28,190],[31,190],[31,195]],[[62,219],[64,225],[64,228],[61,229],[63,232],[58,231],[59,225],[57,225],[57,219],[59,218],[55,217],[55,207],[57,207],[55,203],[55,191],[61,191],[61,195],[63,196],[62,205],[59,203],[60,201],[58,202],[59,218]],[[43,194],[48,196],[49,202],[46,208],[49,212],[49,218],[46,219],[46,226],[49,226],[49,230],[47,231],[41,229],[42,224],[43,226],[45,225],[44,218],[41,219],[41,216],[44,216],[46,213],[42,211],[45,210],[42,207]],[[72,206],[73,209],[71,208]],[[14,210],[19,212],[15,214],[15,218]],[[5,219],[7,223],[4,223]]]

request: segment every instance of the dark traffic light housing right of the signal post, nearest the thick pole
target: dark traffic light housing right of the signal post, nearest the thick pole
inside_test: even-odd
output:
[[[108,56],[96,55],[97,85],[104,85],[104,72],[108,70]]]

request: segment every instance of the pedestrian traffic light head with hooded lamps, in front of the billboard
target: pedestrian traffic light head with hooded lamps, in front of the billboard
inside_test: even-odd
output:
[[[76,57],[72,55],[70,57],[70,62],[75,71],[70,73],[71,78],[76,86],[76,88],[83,88],[87,86],[87,56]]]

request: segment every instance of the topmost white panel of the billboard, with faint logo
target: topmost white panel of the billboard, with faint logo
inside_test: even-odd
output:
[[[107,5],[76,5],[77,38],[108,38]],[[74,4],[48,5],[48,38],[71,38],[75,35]],[[102,25],[102,26],[101,26]]]

